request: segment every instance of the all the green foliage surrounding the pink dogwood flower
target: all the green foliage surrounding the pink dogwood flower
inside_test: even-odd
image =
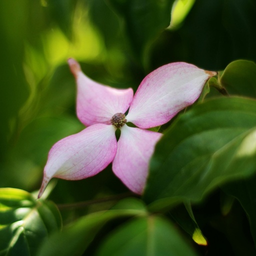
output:
[[[255,255],[256,2],[179,0],[175,27],[173,2],[0,1],[0,187],[16,187],[0,188],[0,255]],[[58,180],[48,196],[60,217],[26,191],[37,193],[53,143],[84,128],[68,57],[134,91],[173,61],[218,75],[152,128],[164,135],[141,198],[107,167]]]

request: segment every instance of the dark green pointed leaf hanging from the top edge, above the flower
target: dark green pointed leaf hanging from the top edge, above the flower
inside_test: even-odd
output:
[[[139,60],[152,41],[170,23],[173,0],[109,0],[124,20],[131,48]]]

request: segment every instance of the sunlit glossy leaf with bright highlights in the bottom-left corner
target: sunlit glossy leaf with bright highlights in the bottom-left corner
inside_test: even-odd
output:
[[[61,227],[56,206],[16,188],[0,188],[0,255],[35,255],[42,239]]]

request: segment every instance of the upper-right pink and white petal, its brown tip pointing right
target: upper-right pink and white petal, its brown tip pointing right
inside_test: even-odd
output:
[[[169,121],[199,97],[206,80],[215,74],[184,62],[157,68],[140,83],[126,116],[127,121],[140,128]]]

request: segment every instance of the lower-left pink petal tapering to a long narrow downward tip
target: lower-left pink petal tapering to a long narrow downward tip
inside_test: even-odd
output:
[[[94,124],[56,142],[48,154],[38,197],[52,177],[83,179],[104,169],[116,153],[115,129]]]

